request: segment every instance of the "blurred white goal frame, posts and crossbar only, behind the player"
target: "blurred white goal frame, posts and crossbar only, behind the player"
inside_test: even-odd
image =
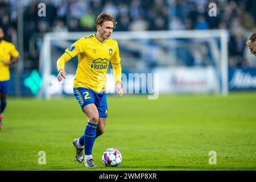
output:
[[[47,92],[49,76],[52,73],[51,43],[65,40],[79,40],[82,36],[90,35],[93,32],[49,32],[44,35],[42,47],[40,48],[39,72],[42,75],[42,87],[38,97],[50,99],[51,93]],[[179,31],[114,31],[112,37],[119,40],[140,40],[140,39],[201,39],[209,42],[210,46],[218,47],[212,40],[218,38],[220,42],[219,51],[212,54],[219,60],[220,89],[218,93],[228,94],[228,31],[226,30],[179,30]],[[75,42],[75,41],[73,41]],[[118,42],[119,43],[119,42]],[[67,47],[66,47],[67,48]],[[215,48],[214,48],[215,50]],[[123,58],[121,57],[122,61]]]

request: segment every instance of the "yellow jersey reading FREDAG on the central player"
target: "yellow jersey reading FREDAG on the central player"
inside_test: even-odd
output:
[[[117,41],[109,38],[100,42],[95,34],[82,37],[65,50],[57,61],[57,69],[64,69],[64,64],[78,56],[74,87],[84,87],[95,92],[105,91],[106,72],[110,62],[114,69],[115,82],[121,82],[121,59]]]

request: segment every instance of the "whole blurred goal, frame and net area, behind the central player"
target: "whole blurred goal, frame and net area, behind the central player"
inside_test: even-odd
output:
[[[42,86],[38,97],[49,99],[73,94],[77,57],[65,64],[67,78],[60,83],[56,61],[72,43],[92,33],[50,32],[44,36],[40,44]],[[124,93],[150,93],[148,75],[155,74],[158,79],[153,79],[154,85],[158,85],[160,94],[228,94],[228,32],[225,30],[114,31],[112,37],[119,46]],[[106,92],[113,93],[114,77],[109,67]]]

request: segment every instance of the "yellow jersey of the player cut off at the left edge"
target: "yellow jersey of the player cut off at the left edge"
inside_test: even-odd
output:
[[[0,81],[10,80],[9,66],[3,64],[2,61],[10,61],[11,57],[18,57],[19,52],[14,44],[2,40],[0,43]]]

